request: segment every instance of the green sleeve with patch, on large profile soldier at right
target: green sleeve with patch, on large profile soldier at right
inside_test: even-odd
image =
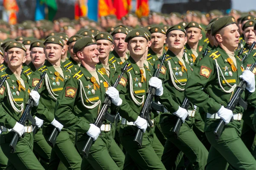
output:
[[[215,63],[212,58],[206,56],[203,58],[198,66],[195,66],[187,84],[185,86],[185,96],[192,102],[192,104],[200,107],[205,112],[211,114],[218,112],[221,105],[203,89],[209,85],[211,81],[218,81]]]

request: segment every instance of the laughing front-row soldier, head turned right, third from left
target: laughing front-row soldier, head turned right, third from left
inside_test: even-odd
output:
[[[108,75],[96,70],[99,51],[94,38],[79,39],[73,51],[81,66],[73,78],[66,82],[60,93],[55,106],[55,118],[70,130],[76,131],[76,146],[79,151],[84,147],[88,137],[94,139],[88,158],[84,157],[82,160],[82,170],[87,168],[87,161],[97,170],[121,170],[124,154],[113,139],[111,122],[105,119],[100,128],[93,123],[106,94],[115,105],[111,107],[113,114],[122,104],[122,99],[119,98],[118,91],[110,87]],[[102,135],[99,136],[100,133]]]

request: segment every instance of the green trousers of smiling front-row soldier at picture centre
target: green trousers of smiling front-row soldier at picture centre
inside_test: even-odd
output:
[[[165,170],[163,163],[152,147],[154,141],[154,128],[148,127],[143,134],[142,147],[134,142],[138,128],[132,125],[121,124],[119,137],[126,153],[132,158],[140,170]],[[125,161],[128,162],[128,161]],[[126,165],[124,165],[126,167]]]

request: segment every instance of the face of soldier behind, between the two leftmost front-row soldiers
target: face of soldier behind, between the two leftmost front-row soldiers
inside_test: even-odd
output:
[[[42,66],[45,61],[44,48],[34,47],[30,51],[30,56],[32,58],[32,63],[34,65]]]

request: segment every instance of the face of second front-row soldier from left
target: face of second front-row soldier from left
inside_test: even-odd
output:
[[[58,44],[47,43],[44,47],[45,57],[50,63],[59,61],[64,53],[65,49]]]

